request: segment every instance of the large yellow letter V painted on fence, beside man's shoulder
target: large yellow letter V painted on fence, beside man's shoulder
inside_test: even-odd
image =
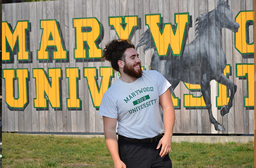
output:
[[[84,68],[84,77],[87,80],[89,91],[92,98],[93,107],[98,109],[103,97],[110,85],[111,77],[114,76],[111,67],[100,67],[101,83],[100,88],[96,79],[98,79],[96,67]]]

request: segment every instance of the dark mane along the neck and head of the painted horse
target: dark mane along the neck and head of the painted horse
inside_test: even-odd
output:
[[[201,32],[205,27],[208,27],[209,18],[211,18],[214,15],[215,10],[219,9],[218,8],[219,6],[225,5],[225,8],[230,9],[230,6],[225,1],[220,0],[217,2],[217,4],[218,4],[218,6],[215,9],[213,9],[212,11],[210,11],[208,13],[201,14],[202,16],[196,18],[196,25],[197,25],[196,26],[196,35],[199,34],[199,32]]]

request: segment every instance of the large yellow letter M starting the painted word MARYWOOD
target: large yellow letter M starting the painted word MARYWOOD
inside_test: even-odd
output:
[[[13,55],[17,53],[18,60],[29,60],[29,23],[28,20],[17,21],[14,30],[7,21],[2,22],[2,60],[13,63]],[[10,53],[12,53],[10,55]]]

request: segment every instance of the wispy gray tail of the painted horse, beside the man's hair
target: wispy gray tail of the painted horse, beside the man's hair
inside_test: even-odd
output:
[[[153,39],[150,35],[150,31],[149,29],[147,29],[141,36],[140,36],[140,40],[139,40],[139,44],[136,46],[136,50],[138,49],[138,47],[140,47],[141,45],[145,45],[143,48],[143,52],[145,53],[147,50],[154,48],[154,50],[156,50]]]

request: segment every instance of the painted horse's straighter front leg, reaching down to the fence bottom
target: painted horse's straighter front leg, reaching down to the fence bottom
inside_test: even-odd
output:
[[[204,101],[206,104],[206,108],[208,109],[210,122],[214,125],[215,130],[217,131],[225,131],[225,128],[216,121],[216,119],[212,115],[212,104],[211,104],[211,96],[210,96],[210,81],[207,80],[206,74],[201,78],[201,92],[204,97]]]

